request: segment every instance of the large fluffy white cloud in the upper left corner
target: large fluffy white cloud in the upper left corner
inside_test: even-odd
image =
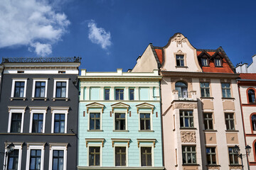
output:
[[[55,12],[48,1],[2,0],[0,47],[28,45],[37,55],[49,55],[69,24],[65,13]]]

